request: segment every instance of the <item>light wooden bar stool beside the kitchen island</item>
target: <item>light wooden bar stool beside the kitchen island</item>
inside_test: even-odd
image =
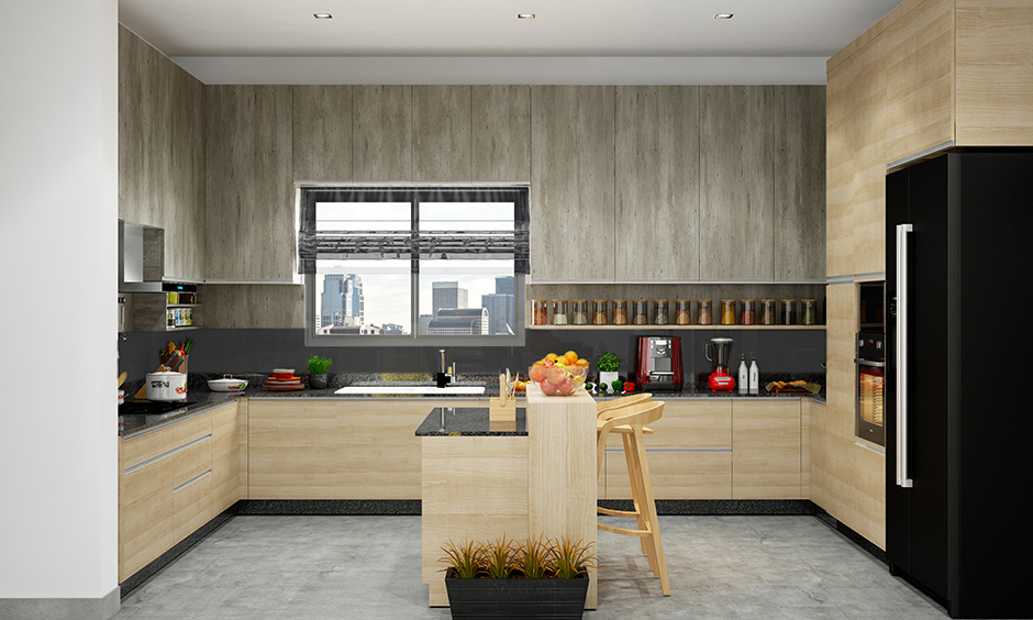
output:
[[[602,422],[597,432],[596,470],[602,470],[603,456],[607,451],[607,438],[614,429],[626,427],[629,431],[621,432],[624,440],[624,458],[627,462],[627,476],[631,479],[631,495],[634,510],[611,510],[597,508],[600,514],[611,517],[634,518],[638,528],[630,530],[615,528],[606,523],[597,523],[600,530],[638,536],[642,541],[643,552],[649,560],[653,575],[659,577],[660,589],[664,596],[670,596],[670,582],[667,578],[667,564],[664,562],[664,544],[660,541],[659,522],[656,517],[656,502],[653,500],[653,484],[649,481],[649,464],[646,461],[643,430],[645,425],[655,422],[664,414],[664,402],[643,401],[627,407],[613,409],[611,416]]]

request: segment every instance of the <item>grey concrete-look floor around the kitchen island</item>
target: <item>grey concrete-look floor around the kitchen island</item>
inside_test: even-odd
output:
[[[637,539],[599,532],[599,609],[586,619],[947,617],[813,517],[662,517],[660,533],[671,596],[660,596]],[[114,618],[449,613],[426,607],[419,517],[236,517],[126,597]]]

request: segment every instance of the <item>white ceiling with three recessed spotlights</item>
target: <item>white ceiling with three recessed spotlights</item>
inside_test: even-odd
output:
[[[693,64],[689,58],[727,58],[725,65],[742,68],[749,66],[747,58],[796,59],[781,63],[787,67],[823,64],[899,1],[120,0],[119,19],[192,73],[219,64],[254,71],[269,64],[268,81],[277,81],[274,76],[284,69],[275,66],[303,69],[312,58],[320,58],[322,68],[301,73],[327,77],[347,73],[357,57],[386,58],[385,68],[390,58],[399,68],[403,59],[418,58],[443,58],[443,66],[457,57],[482,58],[498,68],[548,58],[538,71],[565,64],[563,58],[581,58],[603,71],[613,59],[632,71],[652,65],[635,58],[666,58],[671,67]],[[333,19],[316,20],[315,12]],[[537,18],[518,20],[520,12]],[[713,19],[719,12],[735,16]],[[269,63],[273,58],[279,60]],[[823,82],[823,69],[820,77]],[[235,81],[223,78],[229,79],[201,77]]]

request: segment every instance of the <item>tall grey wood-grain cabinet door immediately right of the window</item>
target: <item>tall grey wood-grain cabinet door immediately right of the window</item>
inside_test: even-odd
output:
[[[611,86],[531,88],[531,277],[612,278]]]

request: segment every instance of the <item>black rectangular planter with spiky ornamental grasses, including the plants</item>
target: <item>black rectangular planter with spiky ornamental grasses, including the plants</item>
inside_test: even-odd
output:
[[[445,588],[454,620],[581,618],[593,567],[591,543],[567,539],[448,541]]]

